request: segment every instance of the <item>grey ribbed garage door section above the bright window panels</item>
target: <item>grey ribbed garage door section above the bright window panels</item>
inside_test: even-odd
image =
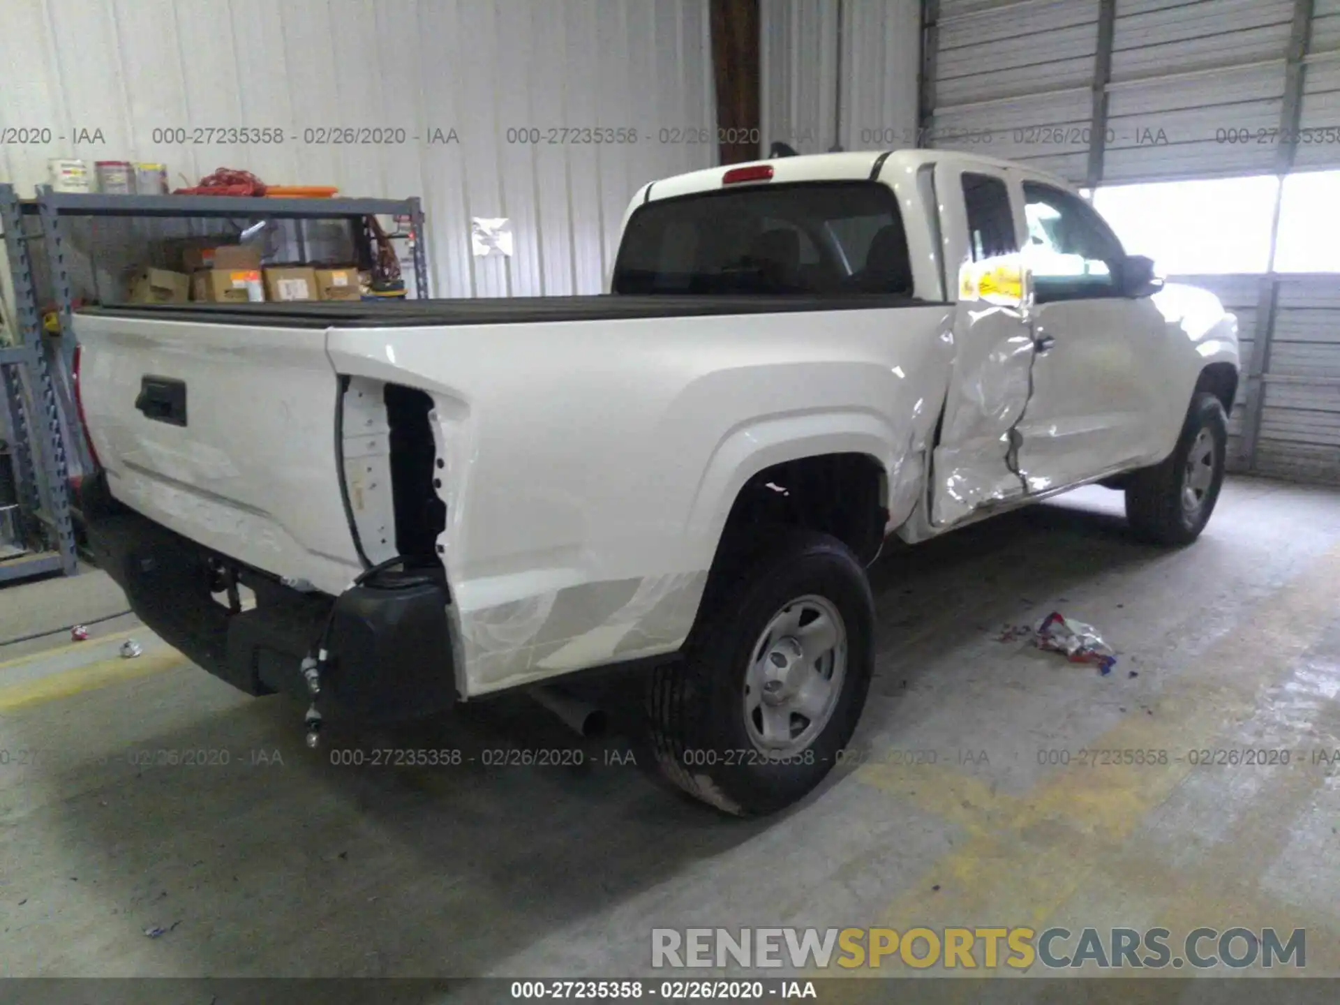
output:
[[[1298,125],[1340,121],[1340,0],[1315,0],[1305,60],[1292,52],[1298,9],[1296,0],[939,0],[931,125],[937,137],[970,137],[935,145],[1029,161],[1080,185],[1274,172],[1281,147],[1294,146],[1286,95],[1300,62]],[[1095,92],[1106,118],[1095,118]],[[1296,145],[1298,166],[1340,166],[1340,143],[1312,139]]]

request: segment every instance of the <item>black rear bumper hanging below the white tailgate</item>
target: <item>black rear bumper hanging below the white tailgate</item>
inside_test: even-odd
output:
[[[299,665],[332,618],[323,712],[393,721],[456,702],[449,595],[440,576],[391,572],[339,598],[302,592],[121,505],[100,473],[79,494],[98,564],[126,591],[131,610],[234,687],[306,695]],[[214,600],[210,565],[220,561],[256,595],[255,608],[232,612]]]

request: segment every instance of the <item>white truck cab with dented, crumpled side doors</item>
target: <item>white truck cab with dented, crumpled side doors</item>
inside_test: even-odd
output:
[[[1235,320],[1214,296],[1164,289],[1064,180],[977,154],[820,154],[649,184],[624,214],[611,289],[958,304],[981,299],[965,272],[993,267],[1018,275],[1017,296],[961,315],[939,480],[925,512],[892,508],[890,532],[923,540],[1160,460],[1194,387],[1231,409]]]

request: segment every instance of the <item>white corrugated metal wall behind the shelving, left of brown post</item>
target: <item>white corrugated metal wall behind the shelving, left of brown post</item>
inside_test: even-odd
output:
[[[226,165],[421,194],[438,296],[598,292],[634,190],[716,162],[714,137],[685,141],[716,127],[708,0],[4,0],[0,66],[0,125],[66,137],[0,149],[20,190],[46,182],[47,158],[79,157],[162,161],[176,185]],[[154,142],[233,126],[285,139]],[[343,126],[405,142],[304,142]],[[636,142],[549,142],[592,126]],[[541,142],[509,142],[525,127]],[[516,255],[473,257],[472,216],[511,217]]]

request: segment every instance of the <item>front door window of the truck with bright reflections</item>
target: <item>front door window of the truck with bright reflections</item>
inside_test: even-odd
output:
[[[1038,303],[1118,296],[1122,243],[1084,200],[1024,182],[1025,261]]]

